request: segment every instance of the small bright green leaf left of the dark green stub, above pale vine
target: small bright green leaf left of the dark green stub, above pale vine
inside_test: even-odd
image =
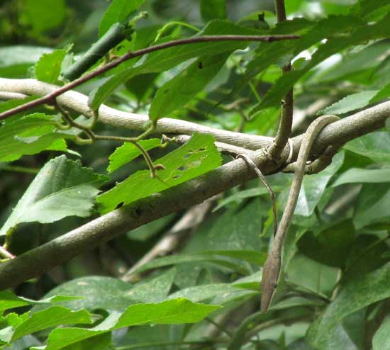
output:
[[[43,54],[34,66],[36,78],[51,84],[57,83],[66,54],[65,50],[54,50],[49,54]]]

